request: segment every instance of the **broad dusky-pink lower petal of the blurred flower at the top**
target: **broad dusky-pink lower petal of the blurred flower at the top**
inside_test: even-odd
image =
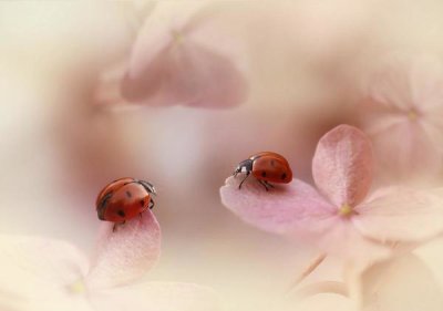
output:
[[[126,76],[128,101],[220,108],[246,100],[247,83],[233,60],[190,41],[168,46],[136,79]]]

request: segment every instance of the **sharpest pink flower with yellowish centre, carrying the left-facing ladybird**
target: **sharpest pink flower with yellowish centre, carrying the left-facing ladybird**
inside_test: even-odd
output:
[[[319,189],[299,179],[269,193],[254,179],[222,187],[223,204],[264,230],[313,241],[356,269],[393,253],[398,242],[419,242],[443,231],[443,208],[435,195],[381,188],[368,196],[372,151],[358,128],[340,125],[318,143],[312,174]]]

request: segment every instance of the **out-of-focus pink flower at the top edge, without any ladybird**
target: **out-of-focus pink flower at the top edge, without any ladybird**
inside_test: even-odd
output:
[[[213,15],[205,1],[158,2],[133,45],[121,83],[124,100],[207,108],[246,101],[243,63],[234,51],[239,42],[208,25]]]

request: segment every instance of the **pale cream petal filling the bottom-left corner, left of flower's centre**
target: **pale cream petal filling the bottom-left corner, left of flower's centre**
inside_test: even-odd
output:
[[[68,304],[70,286],[83,279],[87,267],[83,253],[68,242],[2,235],[0,310],[65,310],[60,305]]]

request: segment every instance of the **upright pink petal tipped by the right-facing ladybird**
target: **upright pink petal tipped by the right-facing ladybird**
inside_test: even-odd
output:
[[[161,249],[161,230],[154,215],[147,210],[119,226],[102,225],[96,256],[86,282],[91,288],[115,287],[143,277],[157,261]]]

